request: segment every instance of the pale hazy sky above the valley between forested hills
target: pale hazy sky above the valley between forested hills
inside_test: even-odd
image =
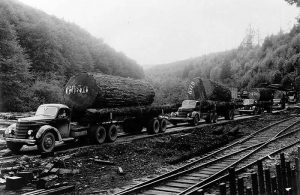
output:
[[[299,8],[284,0],[20,0],[74,22],[141,65],[237,47],[251,25],[260,38],[287,32]]]

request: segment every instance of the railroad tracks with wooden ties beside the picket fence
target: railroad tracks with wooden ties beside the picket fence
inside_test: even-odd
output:
[[[226,176],[229,167],[243,170],[257,159],[266,158],[298,143],[300,117],[288,118],[211,152],[174,171],[116,193],[124,194],[193,194],[198,189]],[[286,146],[286,143],[291,143]]]

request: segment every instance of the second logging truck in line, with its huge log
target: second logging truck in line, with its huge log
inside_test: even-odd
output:
[[[197,77],[190,82],[187,94],[189,99],[184,100],[177,112],[172,112],[168,118],[172,124],[188,122],[198,125],[200,119],[206,123],[217,122],[219,116],[234,119],[235,103],[231,102],[232,93],[228,88]]]

